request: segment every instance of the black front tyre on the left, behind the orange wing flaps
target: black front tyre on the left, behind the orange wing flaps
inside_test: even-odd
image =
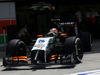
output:
[[[26,56],[27,47],[20,39],[9,41],[6,47],[6,57]]]

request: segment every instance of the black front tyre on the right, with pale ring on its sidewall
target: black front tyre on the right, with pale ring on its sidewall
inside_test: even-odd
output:
[[[68,37],[64,43],[63,54],[74,54],[75,63],[80,63],[83,58],[83,46],[80,38]]]

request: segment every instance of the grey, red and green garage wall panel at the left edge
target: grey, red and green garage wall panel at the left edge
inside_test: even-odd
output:
[[[0,2],[0,27],[5,26],[5,33],[3,29],[0,29],[0,47],[4,46],[5,40],[6,43],[8,42],[7,25],[16,25],[16,12],[14,2]]]

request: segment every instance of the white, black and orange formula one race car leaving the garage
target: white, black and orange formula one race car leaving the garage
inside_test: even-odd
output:
[[[74,24],[74,22],[66,23],[66,25]],[[58,32],[56,28],[52,28],[48,34],[38,35],[36,42],[31,48],[31,63],[29,63],[30,60],[27,57],[27,46],[25,43],[20,39],[13,39],[7,45],[3,66],[37,65],[43,63],[70,63],[71,66],[75,66],[75,63],[80,63],[83,58],[85,48],[81,40],[88,42],[87,35],[85,38],[68,36],[67,33]]]

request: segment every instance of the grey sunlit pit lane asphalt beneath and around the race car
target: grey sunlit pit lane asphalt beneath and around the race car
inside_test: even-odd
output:
[[[1,50],[0,65],[4,56],[4,50]],[[75,67],[39,65],[5,68],[0,66],[0,75],[100,75],[100,39],[93,40],[92,51],[85,52],[82,63],[76,64]]]

